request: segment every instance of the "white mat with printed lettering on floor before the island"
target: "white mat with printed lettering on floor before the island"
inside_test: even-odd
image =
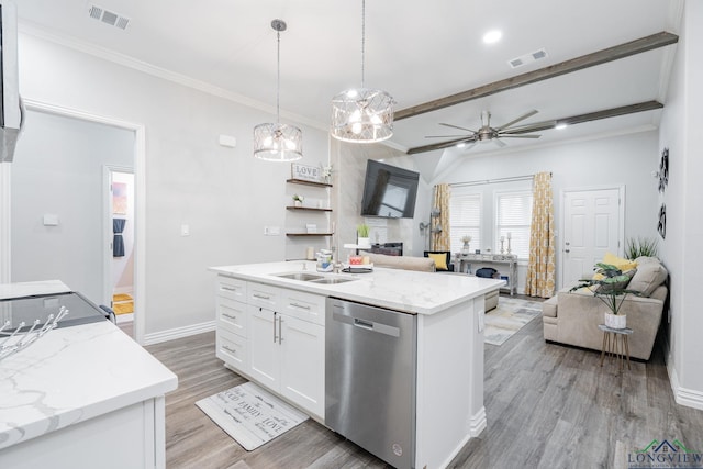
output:
[[[253,382],[201,399],[196,405],[247,451],[308,420]]]

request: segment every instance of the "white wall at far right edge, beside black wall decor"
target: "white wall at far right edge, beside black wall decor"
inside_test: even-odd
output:
[[[703,330],[700,289],[703,283],[703,4],[687,1],[659,147],[669,148],[667,238],[662,258],[671,282],[668,369],[677,402],[703,409]]]

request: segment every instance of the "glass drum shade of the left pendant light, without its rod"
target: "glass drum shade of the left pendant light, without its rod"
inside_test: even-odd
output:
[[[303,157],[303,133],[287,124],[254,127],[254,156],[267,161],[294,161]]]

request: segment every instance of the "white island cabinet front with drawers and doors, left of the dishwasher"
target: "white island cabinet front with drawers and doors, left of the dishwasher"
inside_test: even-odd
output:
[[[217,358],[324,418],[325,297],[217,278]]]

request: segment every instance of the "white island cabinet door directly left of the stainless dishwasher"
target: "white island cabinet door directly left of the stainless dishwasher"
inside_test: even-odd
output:
[[[280,393],[324,418],[325,328],[288,315],[280,321]]]

